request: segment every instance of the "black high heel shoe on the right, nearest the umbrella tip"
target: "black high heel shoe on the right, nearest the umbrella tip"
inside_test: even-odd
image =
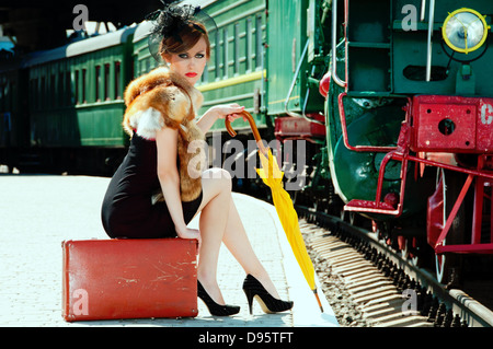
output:
[[[255,295],[262,310],[267,314],[288,311],[294,304],[293,301],[286,302],[272,296],[262,283],[250,274],[243,281],[243,291],[249,302],[250,314],[252,314],[252,303]]]

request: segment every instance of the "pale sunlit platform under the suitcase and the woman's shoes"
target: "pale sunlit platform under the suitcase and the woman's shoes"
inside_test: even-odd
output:
[[[0,175],[0,326],[339,327],[319,287],[324,307],[324,313],[320,312],[275,208],[240,194],[233,198],[249,237],[280,296],[295,302],[290,312],[264,314],[254,302],[250,315],[241,290],[244,272],[222,247],[218,281],[226,301],[241,306],[234,316],[210,316],[199,300],[195,318],[66,323],[61,318],[61,241],[107,239],[100,208],[108,181]],[[198,220],[191,225],[198,226]]]

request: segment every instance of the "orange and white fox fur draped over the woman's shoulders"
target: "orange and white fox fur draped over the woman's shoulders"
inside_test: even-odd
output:
[[[205,166],[204,133],[195,124],[195,112],[202,105],[202,93],[186,80],[165,68],[157,68],[137,78],[125,91],[123,127],[131,137],[154,140],[163,127],[179,131],[177,156],[182,201],[196,199],[202,190]],[[194,142],[199,141],[199,142]],[[194,142],[194,143],[192,143]],[[188,152],[190,151],[190,152]],[[162,194],[157,201],[162,201]]]

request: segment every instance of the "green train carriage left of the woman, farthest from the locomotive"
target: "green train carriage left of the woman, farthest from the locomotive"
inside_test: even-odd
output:
[[[121,127],[135,28],[123,28],[24,59],[30,161],[21,171],[112,173],[128,141]]]

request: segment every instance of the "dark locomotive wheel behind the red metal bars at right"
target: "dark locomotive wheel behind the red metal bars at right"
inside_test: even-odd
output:
[[[443,226],[447,221],[454,203],[456,202],[460,189],[463,185],[463,175],[457,172],[438,170],[437,185],[442,184],[444,193],[444,210],[443,210]],[[440,181],[442,179],[442,181]],[[456,218],[450,226],[447,237],[443,244],[461,244],[465,240],[466,231],[466,202],[460,206]],[[436,278],[440,283],[457,282],[461,269],[461,257],[456,254],[435,254],[435,269]]]

